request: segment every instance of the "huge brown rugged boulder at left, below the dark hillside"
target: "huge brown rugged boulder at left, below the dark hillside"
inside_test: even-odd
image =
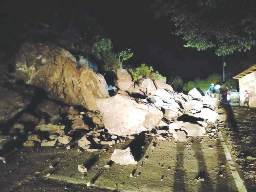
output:
[[[97,109],[95,100],[109,97],[102,75],[78,70],[72,54],[53,44],[24,43],[16,57],[15,78],[43,88],[52,99]]]

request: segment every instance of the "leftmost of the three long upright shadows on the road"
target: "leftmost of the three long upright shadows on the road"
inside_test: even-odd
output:
[[[175,164],[175,173],[174,173],[174,183],[173,183],[173,192],[185,192],[186,185],[184,177],[186,176],[186,171],[183,168],[184,164],[184,152],[185,152],[185,142],[177,143],[177,156]]]

